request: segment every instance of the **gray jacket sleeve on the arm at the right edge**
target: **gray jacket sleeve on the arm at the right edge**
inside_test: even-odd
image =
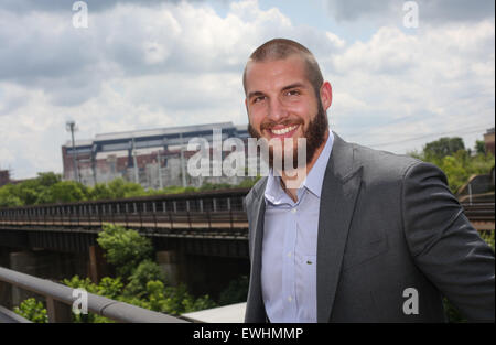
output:
[[[494,251],[464,215],[443,172],[412,164],[403,176],[401,203],[418,268],[470,321],[494,321]]]

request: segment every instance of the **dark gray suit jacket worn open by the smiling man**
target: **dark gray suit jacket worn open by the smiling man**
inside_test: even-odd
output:
[[[266,322],[261,295],[267,177],[245,203],[251,261],[246,322]],[[432,164],[335,134],[321,195],[317,322],[444,322],[442,295],[472,321],[494,321],[494,251]],[[418,314],[406,314],[418,292]]]

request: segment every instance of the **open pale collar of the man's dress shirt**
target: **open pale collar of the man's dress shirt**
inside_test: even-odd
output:
[[[321,197],[322,183],[324,181],[325,169],[327,166],[328,158],[331,157],[331,152],[334,143],[334,134],[330,130],[328,138],[325,142],[324,149],[319,155],[315,164],[309,172],[309,175],[302,183],[302,186],[306,187],[310,192],[312,192],[315,196]],[[272,204],[283,203],[285,198],[289,196],[284,193],[281,187],[280,176],[274,176],[272,169],[269,171],[269,175],[267,177],[267,186],[265,191],[266,201]],[[299,200],[302,188],[298,191]]]

